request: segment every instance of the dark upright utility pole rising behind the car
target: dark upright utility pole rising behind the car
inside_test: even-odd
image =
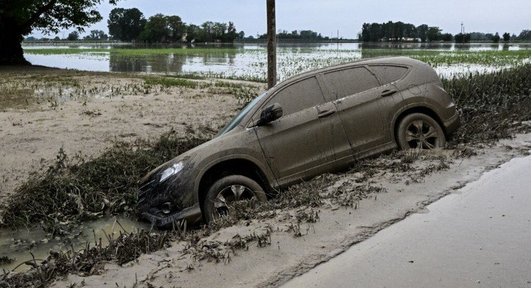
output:
[[[267,0],[267,88],[277,84],[275,0]]]

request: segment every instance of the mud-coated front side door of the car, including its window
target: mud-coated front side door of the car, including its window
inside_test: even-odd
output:
[[[338,160],[336,147],[348,145],[348,140],[335,105],[326,102],[315,76],[280,89],[262,108],[273,103],[282,107],[282,117],[253,129],[279,184],[332,170]],[[259,118],[260,111],[253,121]]]

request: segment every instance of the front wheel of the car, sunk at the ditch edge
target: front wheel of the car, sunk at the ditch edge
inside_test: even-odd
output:
[[[266,201],[267,196],[260,184],[242,175],[231,175],[214,182],[205,199],[207,223],[229,214],[231,203],[240,200]]]

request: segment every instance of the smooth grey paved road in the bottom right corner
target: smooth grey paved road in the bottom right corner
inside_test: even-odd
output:
[[[531,287],[531,156],[512,159],[286,287]]]

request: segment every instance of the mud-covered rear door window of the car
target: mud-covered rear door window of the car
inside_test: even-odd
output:
[[[324,74],[337,99],[379,86],[378,80],[365,67],[342,69]]]

